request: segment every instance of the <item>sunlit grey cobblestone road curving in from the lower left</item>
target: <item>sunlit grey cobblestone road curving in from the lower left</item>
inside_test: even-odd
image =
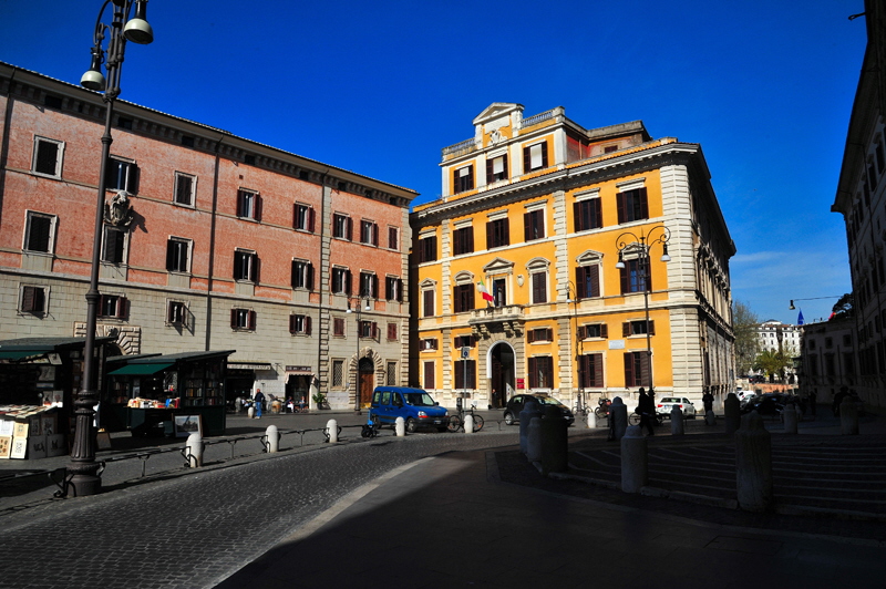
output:
[[[213,587],[393,468],[516,440],[511,428],[317,446],[8,512],[0,518],[0,587]]]

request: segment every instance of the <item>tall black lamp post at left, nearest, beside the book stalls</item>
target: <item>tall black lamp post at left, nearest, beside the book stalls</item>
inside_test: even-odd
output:
[[[114,14],[110,25],[102,23],[104,9],[113,3]],[[95,235],[92,241],[92,272],[90,289],[86,292],[86,341],[83,347],[83,385],[74,401],[76,415],[74,441],[71,448],[71,464],[68,471],[72,474],[71,484],[79,496],[95,495],[102,488],[100,465],[95,462],[95,444],[93,435],[92,409],[99,401],[97,379],[95,370],[95,322],[99,316],[99,268],[101,265],[102,224],[104,211],[105,174],[107,158],[111,153],[111,123],[114,112],[114,100],[120,95],[120,70],[123,65],[123,53],[126,41],[147,44],[154,40],[154,31],[145,20],[147,0],[105,0],[95,22],[94,46],[92,48],[92,65],[80,79],[80,84],[89,90],[103,92],[105,102],[104,135],[102,135],[102,162],[99,170],[99,194],[95,200]],[[135,7],[135,17],[130,18]],[[107,52],[102,42],[109,35]],[[107,78],[102,74],[102,62],[105,63]]]

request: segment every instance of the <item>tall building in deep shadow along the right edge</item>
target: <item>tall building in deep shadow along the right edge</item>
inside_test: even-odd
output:
[[[886,410],[886,3],[865,0],[867,48],[852,107],[837,193],[853,286],[855,390]],[[807,350],[808,351],[808,350]],[[849,374],[843,375],[848,379]]]

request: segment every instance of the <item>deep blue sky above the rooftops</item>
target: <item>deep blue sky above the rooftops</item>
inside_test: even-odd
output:
[[[99,1],[0,0],[0,61],[79,83]],[[738,255],[733,298],[852,287],[831,213],[864,54],[862,0],[152,0],[122,99],[341,168],[441,192],[440,149],[493,102],[642,120],[700,143]],[[106,12],[110,16],[110,9]],[[107,21],[107,20],[106,20]],[[109,21],[110,22],[110,21]],[[96,146],[97,148],[97,146]],[[836,299],[803,301],[806,322]]]

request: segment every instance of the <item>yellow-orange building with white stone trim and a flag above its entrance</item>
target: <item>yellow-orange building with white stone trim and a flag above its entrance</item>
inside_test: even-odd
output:
[[[701,147],[523,108],[480,113],[443,149],[442,198],[410,216],[413,381],[483,407],[730,391],[735,248]]]

